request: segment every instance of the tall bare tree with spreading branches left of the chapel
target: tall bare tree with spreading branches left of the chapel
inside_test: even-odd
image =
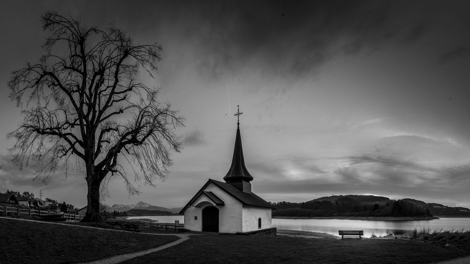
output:
[[[45,54],[12,71],[8,81],[9,97],[23,115],[7,134],[16,139],[9,151],[19,169],[30,166],[44,183],[58,170],[81,172],[88,186],[84,221],[100,222],[106,177],[122,176],[133,195],[142,183],[154,186],[168,176],[172,151],[182,149],[174,129],[184,117],[158,101],[161,88],[136,80],[140,70],[153,78],[161,45],[135,44],[112,23],[102,30],[55,11],[41,18],[49,33]],[[120,158],[131,164],[133,179]]]

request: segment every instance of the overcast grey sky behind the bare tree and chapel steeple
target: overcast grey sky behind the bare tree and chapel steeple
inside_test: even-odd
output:
[[[156,78],[141,80],[187,118],[168,179],[128,197],[113,178],[110,205],[182,207],[222,180],[240,105],[252,190],[266,201],[374,194],[470,207],[469,1],[2,3],[1,192],[86,205],[81,175],[32,181],[7,150],[21,115],[6,82],[43,54],[50,9],[161,43]]]

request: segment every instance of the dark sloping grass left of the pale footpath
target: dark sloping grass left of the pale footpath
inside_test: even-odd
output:
[[[116,232],[0,218],[0,263],[86,262],[155,248],[178,239],[172,235]]]

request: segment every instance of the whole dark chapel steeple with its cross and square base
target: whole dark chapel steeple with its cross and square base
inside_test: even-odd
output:
[[[239,106],[238,106],[239,107]],[[238,112],[234,115],[237,116],[237,130],[235,136],[235,148],[234,156],[232,158],[232,165],[228,169],[227,175],[225,175],[224,180],[244,192],[251,193],[251,183],[253,177],[250,175],[250,172],[245,167],[245,160],[243,159],[243,149],[242,149],[242,137],[240,136],[240,108]]]

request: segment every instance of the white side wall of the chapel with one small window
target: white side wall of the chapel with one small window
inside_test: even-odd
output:
[[[258,228],[261,218],[261,228]],[[243,205],[243,232],[271,228],[271,208]]]

